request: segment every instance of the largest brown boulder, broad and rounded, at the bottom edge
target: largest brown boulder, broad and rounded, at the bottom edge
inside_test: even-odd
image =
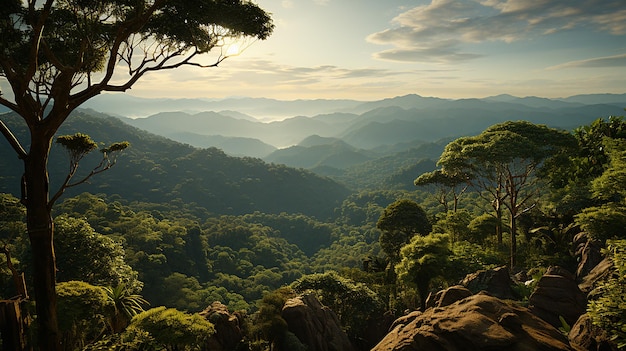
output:
[[[487,294],[429,308],[396,323],[372,351],[572,350],[556,328],[528,309]]]

